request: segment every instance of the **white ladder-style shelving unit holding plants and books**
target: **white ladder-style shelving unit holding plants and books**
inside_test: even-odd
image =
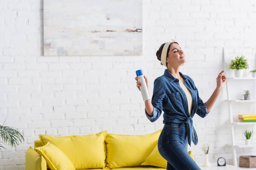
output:
[[[224,58],[224,69],[225,68],[225,50],[223,48],[223,58]],[[237,165],[237,157],[236,157],[236,148],[243,148],[243,147],[256,147],[256,143],[251,143],[250,145],[245,145],[245,144],[239,144],[236,143],[235,141],[235,134],[234,134],[234,126],[243,126],[243,125],[256,125],[256,122],[234,122],[233,121],[233,112],[232,112],[232,103],[236,104],[238,102],[251,102],[252,104],[255,104],[256,99],[252,99],[252,100],[239,100],[239,99],[230,99],[230,95],[229,95],[229,88],[228,88],[228,84],[229,84],[229,80],[256,80],[256,78],[235,78],[235,77],[227,77],[226,79],[226,88],[227,88],[227,101],[228,101],[228,110],[229,110],[229,115],[230,115],[230,128],[231,128],[231,136],[232,136],[232,148],[233,148],[233,165],[234,166],[238,166]],[[253,82],[254,83],[254,82]],[[256,113],[253,113],[256,114]],[[253,142],[253,141],[251,141]]]

